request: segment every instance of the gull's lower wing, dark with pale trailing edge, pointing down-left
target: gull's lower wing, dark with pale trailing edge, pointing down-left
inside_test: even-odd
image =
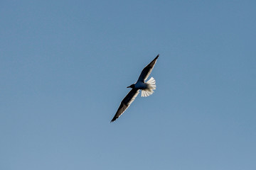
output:
[[[120,106],[117,110],[117,113],[114,115],[114,118],[112,118],[111,122],[114,122],[117,118],[119,118],[122,113],[124,113],[125,110],[130,106],[130,104],[134,101],[134,99],[138,96],[139,90],[138,89],[132,89],[129,91],[127,96],[124,97],[124,99],[121,101]]]

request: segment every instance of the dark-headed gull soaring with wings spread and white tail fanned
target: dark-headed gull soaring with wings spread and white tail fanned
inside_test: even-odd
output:
[[[156,60],[158,59],[159,55],[157,55],[152,62],[150,62],[144,69],[142,73],[139,75],[139,79],[135,84],[131,86],[127,86],[127,88],[132,88],[131,91],[124,97],[121,101],[119,108],[117,109],[117,113],[115,113],[114,118],[112,118],[111,123],[114,122],[117,118],[119,118],[124,111],[132,104],[134,99],[138,96],[139,91],[142,90],[142,97],[150,96],[154,93],[156,89],[156,81],[153,77],[151,77],[148,81],[146,79],[149,77],[149,74],[152,72],[154,65],[156,64]],[[146,81],[146,83],[145,83]]]

